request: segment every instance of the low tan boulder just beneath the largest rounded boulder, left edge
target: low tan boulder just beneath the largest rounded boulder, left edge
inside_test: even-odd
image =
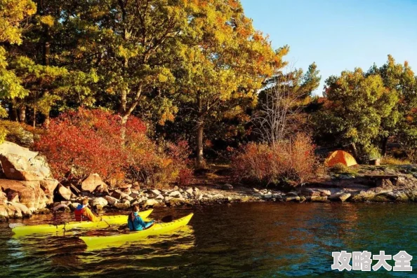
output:
[[[0,187],[8,193],[9,190],[18,192],[20,203],[32,212],[46,207],[46,195],[39,181],[11,181],[0,179]]]

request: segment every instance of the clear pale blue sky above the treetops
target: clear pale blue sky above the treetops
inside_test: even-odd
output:
[[[417,74],[417,0],[241,0],[253,26],[269,34],[272,46],[288,44],[285,60],[307,69],[316,62],[327,77],[391,54],[409,61]]]

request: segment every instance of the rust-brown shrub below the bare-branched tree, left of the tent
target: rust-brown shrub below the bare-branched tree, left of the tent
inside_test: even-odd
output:
[[[298,185],[315,176],[318,163],[310,137],[297,134],[293,141],[275,146],[250,143],[232,160],[232,171],[239,181]]]

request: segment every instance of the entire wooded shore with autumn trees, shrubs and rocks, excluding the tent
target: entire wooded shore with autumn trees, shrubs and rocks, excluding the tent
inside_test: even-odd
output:
[[[85,196],[416,202],[409,63],[335,73],[317,96],[319,65],[293,68],[289,50],[238,0],[0,0],[1,220]],[[327,167],[336,150],[359,165]]]

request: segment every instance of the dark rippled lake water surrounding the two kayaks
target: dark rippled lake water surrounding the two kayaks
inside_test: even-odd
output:
[[[76,235],[14,239],[0,224],[0,277],[417,277],[416,204],[243,203],[151,216],[190,212],[188,228],[101,250],[86,250]],[[331,270],[331,252],[341,250],[405,250],[414,271]]]

